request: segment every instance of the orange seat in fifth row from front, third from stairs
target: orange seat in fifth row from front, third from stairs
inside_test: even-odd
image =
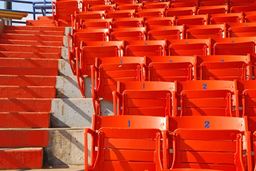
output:
[[[184,38],[184,26],[147,27],[148,41]]]

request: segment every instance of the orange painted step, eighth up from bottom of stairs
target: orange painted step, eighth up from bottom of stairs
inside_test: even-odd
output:
[[[58,68],[58,59],[0,58],[0,66]]]

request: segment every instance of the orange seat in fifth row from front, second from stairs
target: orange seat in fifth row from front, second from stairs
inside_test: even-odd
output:
[[[110,29],[111,41],[145,41],[146,27]]]

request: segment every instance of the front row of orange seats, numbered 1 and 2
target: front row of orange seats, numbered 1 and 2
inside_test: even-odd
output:
[[[246,116],[93,115],[85,171],[253,171],[255,131]]]

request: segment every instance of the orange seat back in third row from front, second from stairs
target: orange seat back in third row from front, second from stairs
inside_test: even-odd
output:
[[[191,81],[195,58],[190,56],[146,57],[146,78],[148,81]]]

